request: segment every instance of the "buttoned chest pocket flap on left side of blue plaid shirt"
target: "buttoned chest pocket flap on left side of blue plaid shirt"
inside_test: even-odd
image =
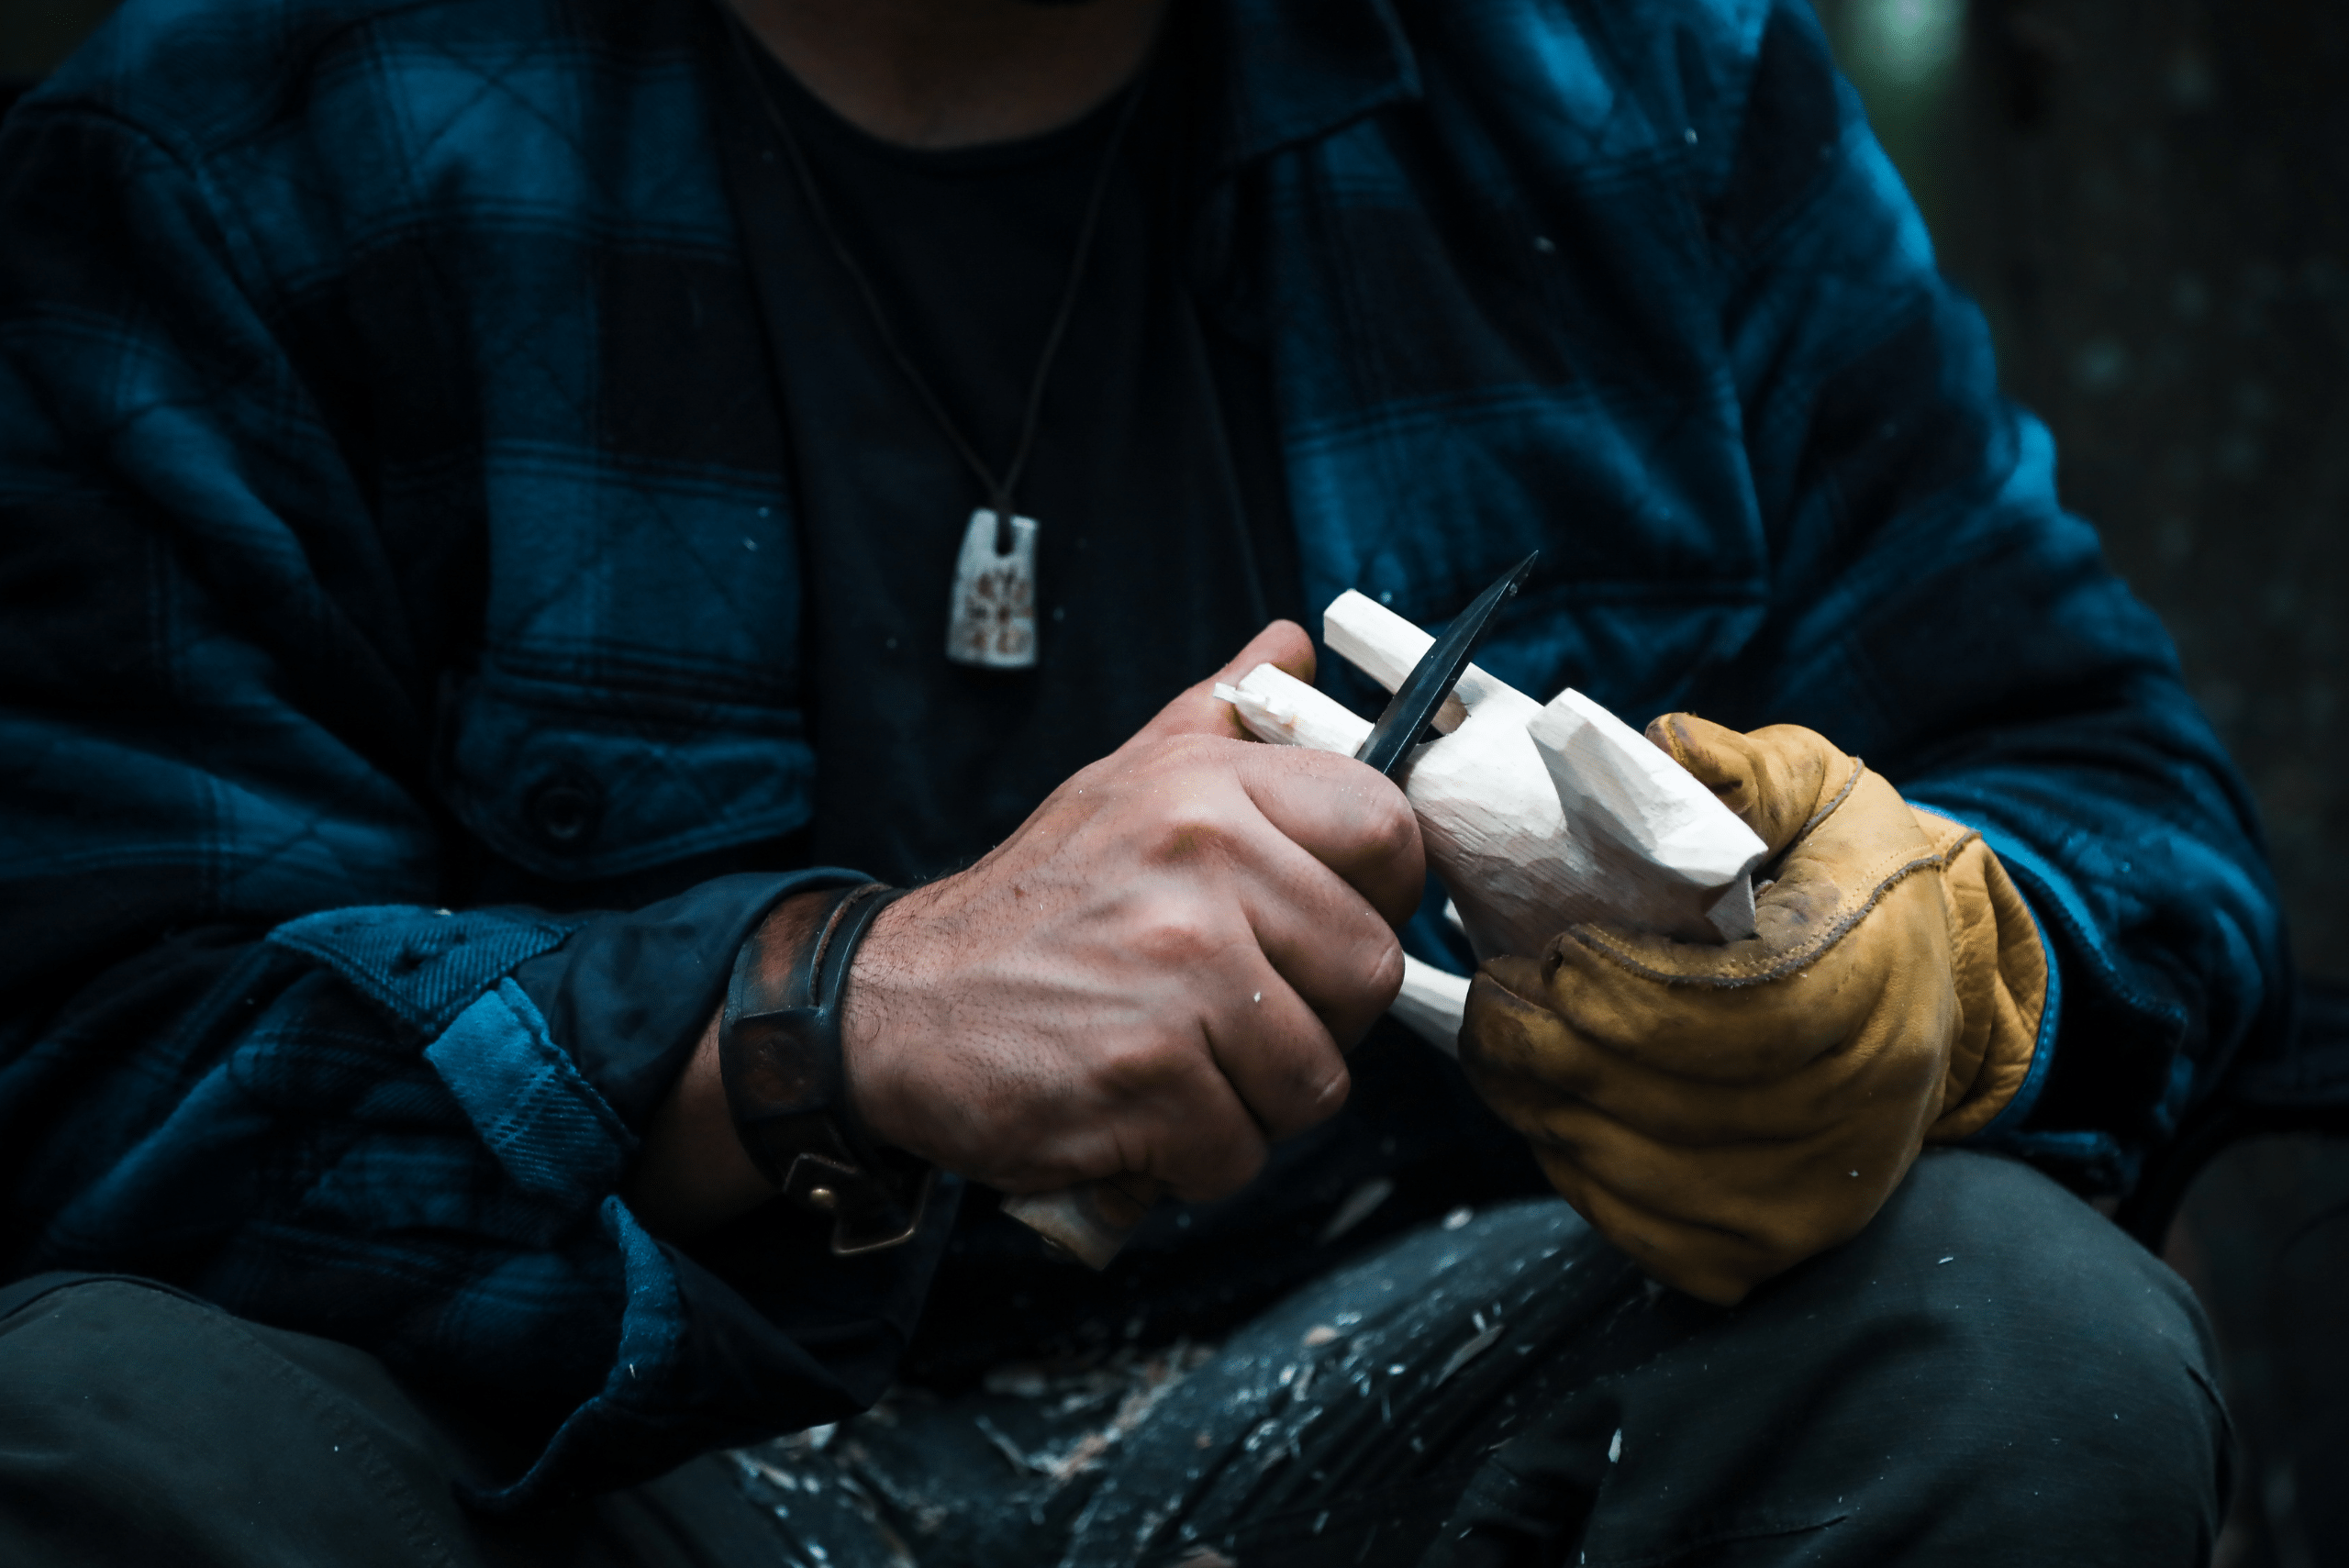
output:
[[[449,681],[435,772],[484,845],[564,883],[780,838],[815,793],[796,709],[496,669]]]

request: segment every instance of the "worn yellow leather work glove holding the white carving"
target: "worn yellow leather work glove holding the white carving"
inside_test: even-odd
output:
[[[1574,925],[1468,993],[1461,1063],[1651,1277],[1717,1305],[1860,1232],[2030,1073],[2039,927],[1980,833],[1820,735],[1647,728],[1771,847],[1759,934]]]

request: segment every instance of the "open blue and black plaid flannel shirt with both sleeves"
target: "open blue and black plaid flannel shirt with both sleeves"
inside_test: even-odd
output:
[[[1539,547],[1503,678],[1980,826],[2060,974],[1990,1141],[2126,1185],[2274,1030],[2276,899],[1809,9],[1198,5],[1184,265],[1308,603]],[[937,1256],[716,1277],[618,1197],[841,876],[745,866],[810,671],[712,59],[700,0],[129,0],[0,134],[0,1258],[498,1404],[491,1502],[860,1406]]]

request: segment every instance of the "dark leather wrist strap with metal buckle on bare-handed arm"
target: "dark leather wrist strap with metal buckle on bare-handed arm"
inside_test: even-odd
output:
[[[857,1122],[841,1066],[848,967],[897,897],[864,883],[829,892],[813,922],[763,920],[735,953],[719,1016],[719,1077],[742,1148],[782,1197],[832,1216],[841,1258],[911,1242],[937,1181]]]

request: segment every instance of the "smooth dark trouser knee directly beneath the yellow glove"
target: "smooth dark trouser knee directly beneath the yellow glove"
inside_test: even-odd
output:
[[[2210,1556],[2227,1418],[2203,1314],[2022,1164],[1929,1153],[1860,1237],[1741,1307],[1647,1312],[1663,1350],[1567,1404],[1616,1453],[1581,1561]]]

